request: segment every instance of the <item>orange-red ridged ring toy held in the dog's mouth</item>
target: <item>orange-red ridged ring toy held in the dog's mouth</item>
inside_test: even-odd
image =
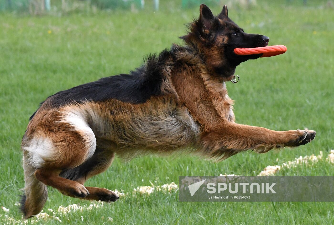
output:
[[[287,47],[284,45],[272,45],[272,46],[257,47],[257,48],[234,48],[234,53],[237,55],[263,54],[261,58],[283,54],[286,51]]]

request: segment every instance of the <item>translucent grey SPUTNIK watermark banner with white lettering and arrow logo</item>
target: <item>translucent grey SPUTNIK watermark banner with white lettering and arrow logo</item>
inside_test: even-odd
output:
[[[180,176],[179,201],[334,201],[334,176]]]

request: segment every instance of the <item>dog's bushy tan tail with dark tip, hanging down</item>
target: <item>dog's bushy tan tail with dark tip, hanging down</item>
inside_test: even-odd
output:
[[[47,199],[46,185],[38,181],[34,175],[36,167],[29,163],[29,156],[23,156],[24,195],[21,199],[21,210],[24,219],[37,215],[43,208]]]

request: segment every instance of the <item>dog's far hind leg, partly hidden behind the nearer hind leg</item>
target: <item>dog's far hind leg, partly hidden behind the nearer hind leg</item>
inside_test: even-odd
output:
[[[60,176],[83,185],[89,178],[106,171],[113,160],[114,152],[98,147],[90,159],[77,167],[63,170]],[[86,189],[90,193],[84,198],[86,200],[114,202],[119,199],[115,192],[106,188],[86,187]]]

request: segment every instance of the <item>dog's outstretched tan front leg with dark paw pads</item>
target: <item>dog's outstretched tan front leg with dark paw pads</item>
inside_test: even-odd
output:
[[[307,144],[315,137],[314,130],[275,131],[226,122],[219,128],[203,132],[200,144],[210,157],[227,158],[239,151],[254,149],[267,152],[273,148],[296,147]]]

